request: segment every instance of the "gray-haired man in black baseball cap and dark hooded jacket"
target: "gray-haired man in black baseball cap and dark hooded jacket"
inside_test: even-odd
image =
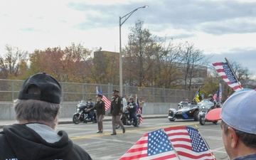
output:
[[[18,124],[0,132],[0,159],[91,159],[64,131],[55,133],[61,87],[55,78],[38,73],[27,78],[14,101]]]

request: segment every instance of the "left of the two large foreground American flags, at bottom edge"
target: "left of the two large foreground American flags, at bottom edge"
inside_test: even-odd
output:
[[[178,159],[164,129],[144,134],[119,160],[129,159]]]

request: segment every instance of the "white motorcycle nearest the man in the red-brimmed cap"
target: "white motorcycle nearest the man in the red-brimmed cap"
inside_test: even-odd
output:
[[[198,107],[199,107],[198,119],[201,125],[206,124],[206,122],[213,122],[213,124],[218,123],[218,121],[209,121],[208,119],[206,119],[206,114],[210,110],[212,110],[213,106],[214,106],[214,103],[210,102],[210,100],[208,99],[204,99],[201,102],[198,102]]]

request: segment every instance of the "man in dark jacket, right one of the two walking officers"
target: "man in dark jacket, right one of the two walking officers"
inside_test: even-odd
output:
[[[119,90],[113,90],[113,97],[111,99],[110,105],[110,114],[112,114],[112,129],[113,132],[111,135],[117,135],[116,132],[116,123],[122,128],[122,132],[125,133],[124,125],[120,120],[120,116],[122,115],[123,102],[122,97],[119,97]]]

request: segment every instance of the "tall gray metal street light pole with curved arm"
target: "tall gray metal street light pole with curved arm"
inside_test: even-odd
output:
[[[122,96],[122,44],[121,44],[121,26],[122,24],[127,21],[127,19],[134,13],[134,11],[137,11],[138,9],[143,9],[148,6],[141,6],[138,7],[137,9],[134,9],[133,11],[129,12],[129,14],[126,14],[125,16],[119,16],[119,93],[120,96]],[[122,21],[122,18],[124,18],[124,21]]]

